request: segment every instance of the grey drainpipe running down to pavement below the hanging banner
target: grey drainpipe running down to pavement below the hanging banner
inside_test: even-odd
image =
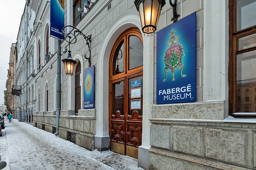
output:
[[[59,135],[59,127],[60,127],[60,100],[61,100],[61,87],[60,87],[60,74],[61,74],[61,55],[60,55],[60,40],[57,43],[57,97],[56,97],[56,133],[55,136]]]

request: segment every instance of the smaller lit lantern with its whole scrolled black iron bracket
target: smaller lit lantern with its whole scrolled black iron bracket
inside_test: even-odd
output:
[[[66,27],[72,27],[73,30],[70,31],[69,33],[65,33],[65,28]],[[76,43],[76,41],[77,41],[76,36],[77,35],[82,35],[84,37],[85,41],[86,41],[86,45],[89,48],[89,57],[87,57],[87,55],[85,54],[84,58],[88,60],[89,67],[91,67],[91,65],[92,65],[92,63],[91,63],[91,48],[90,48],[91,35],[88,35],[88,36],[84,35],[84,33],[82,33],[82,31],[78,30],[74,26],[64,26],[62,28],[62,35],[63,35],[65,41],[68,42],[68,48],[69,48],[68,49],[68,57],[66,59],[62,60],[62,62],[64,63],[66,74],[72,76],[73,72],[74,72],[75,65],[76,65],[76,61],[73,60],[72,57],[71,57],[70,44],[75,44]]]

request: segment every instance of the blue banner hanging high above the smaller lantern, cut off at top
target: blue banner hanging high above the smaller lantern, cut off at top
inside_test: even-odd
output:
[[[64,0],[51,0],[50,35],[63,39],[61,30],[64,27]]]

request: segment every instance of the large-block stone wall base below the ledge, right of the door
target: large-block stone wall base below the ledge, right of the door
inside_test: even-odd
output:
[[[256,124],[151,119],[149,169],[255,169]]]

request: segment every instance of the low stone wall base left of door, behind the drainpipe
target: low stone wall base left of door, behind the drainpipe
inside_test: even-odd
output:
[[[76,144],[88,149],[94,150],[94,135],[96,134],[96,109],[79,110],[78,115],[70,115],[72,111],[61,111],[59,137],[67,140],[68,132],[76,134]],[[42,112],[43,113],[43,112]],[[40,113],[39,113],[40,114]],[[53,112],[34,115],[33,126],[37,123],[37,128],[42,129],[42,124],[45,125],[45,130],[52,133],[52,127],[56,127],[56,115]]]

